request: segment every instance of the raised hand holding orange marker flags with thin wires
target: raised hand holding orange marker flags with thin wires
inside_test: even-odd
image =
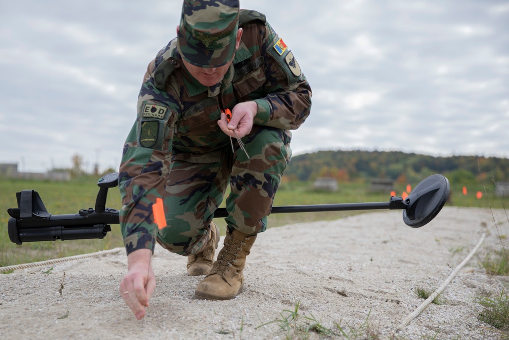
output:
[[[242,138],[251,132],[254,116],[258,111],[258,104],[254,101],[240,102],[232,109],[232,119],[228,122],[224,113],[217,125],[230,137],[235,137],[234,130],[239,138]]]

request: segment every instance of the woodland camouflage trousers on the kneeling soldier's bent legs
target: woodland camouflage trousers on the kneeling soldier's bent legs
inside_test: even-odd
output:
[[[291,157],[290,132],[254,125],[244,137],[249,158],[234,138],[218,162],[173,160],[163,197],[167,226],[157,242],[180,255],[199,253],[206,245],[214,212],[226,198],[228,228],[246,234],[265,231],[267,215]]]

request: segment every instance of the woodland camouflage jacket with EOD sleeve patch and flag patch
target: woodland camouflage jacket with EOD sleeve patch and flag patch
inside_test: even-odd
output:
[[[241,10],[242,41],[222,82],[206,87],[189,74],[176,39],[148,65],[137,119],[120,166],[120,224],[127,253],[154,247],[152,203],[162,197],[172,159],[216,162],[230,139],[218,127],[221,110],[258,104],[254,124],[296,129],[309,115],[311,89],[290,48],[265,16]]]

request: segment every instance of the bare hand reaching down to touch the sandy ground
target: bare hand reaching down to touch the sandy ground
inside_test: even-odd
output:
[[[138,320],[145,316],[145,307],[149,306],[150,297],[156,287],[151,256],[150,249],[139,249],[130,253],[127,256],[128,273],[120,282],[119,292]]]

